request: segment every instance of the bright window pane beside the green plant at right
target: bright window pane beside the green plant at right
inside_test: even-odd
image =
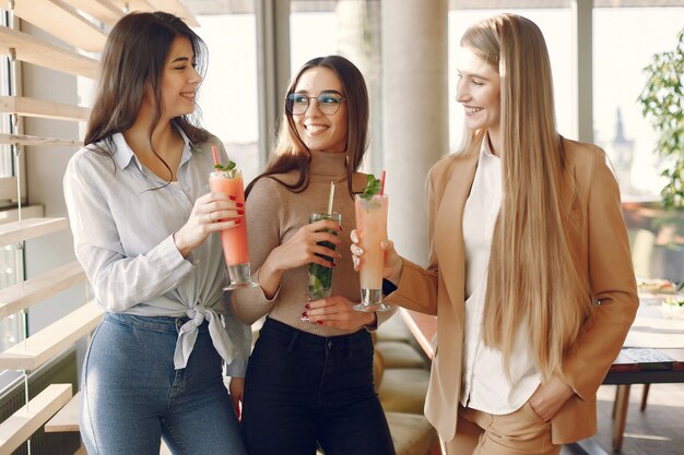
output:
[[[637,97],[651,56],[674,49],[682,27],[684,8],[593,10],[594,141],[609,154],[625,201],[660,200],[664,163]]]

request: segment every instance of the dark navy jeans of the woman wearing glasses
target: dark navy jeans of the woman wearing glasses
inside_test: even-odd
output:
[[[250,455],[394,455],[361,330],[321,337],[267,319],[249,358],[243,435]]]

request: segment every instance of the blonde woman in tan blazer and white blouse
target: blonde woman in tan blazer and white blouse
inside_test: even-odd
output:
[[[595,432],[638,306],[618,188],[601,148],[556,131],[534,23],[482,21],[459,60],[465,134],[428,176],[429,265],[389,243],[387,301],[438,316],[425,414],[448,455],[558,454]]]

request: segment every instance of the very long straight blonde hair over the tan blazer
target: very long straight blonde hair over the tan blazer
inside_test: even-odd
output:
[[[564,190],[576,189],[564,189],[571,180],[564,179],[546,44],[530,20],[500,14],[470,27],[461,46],[500,76],[504,199],[492,241],[484,342],[502,350],[508,371],[516,336],[527,324],[536,367],[547,378],[561,372],[592,300],[573,260],[580,226],[562,200]],[[484,133],[470,131],[461,152],[479,151]]]

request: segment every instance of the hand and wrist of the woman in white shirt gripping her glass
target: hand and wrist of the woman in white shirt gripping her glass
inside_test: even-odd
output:
[[[232,229],[241,223],[243,204],[225,193],[207,193],[194,201],[187,223],[174,234],[174,241],[182,256],[204,243],[212,232]]]

